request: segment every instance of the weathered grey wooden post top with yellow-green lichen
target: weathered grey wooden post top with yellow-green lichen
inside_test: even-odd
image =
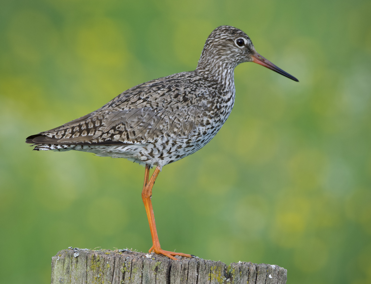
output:
[[[285,284],[278,265],[231,263],[129,250],[69,248],[52,257],[52,284]]]

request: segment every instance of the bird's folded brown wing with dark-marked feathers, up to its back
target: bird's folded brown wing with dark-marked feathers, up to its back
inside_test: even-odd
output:
[[[158,137],[187,137],[203,114],[193,91],[163,82],[125,94],[60,127],[27,138],[40,144],[147,144]],[[130,90],[130,89],[129,89]],[[128,91],[129,91],[128,90]]]

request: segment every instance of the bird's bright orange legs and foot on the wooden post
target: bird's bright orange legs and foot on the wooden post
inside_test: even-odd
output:
[[[162,250],[160,246],[160,241],[158,240],[157,236],[157,230],[156,230],[156,223],[155,223],[155,215],[153,214],[153,208],[152,208],[152,187],[155,183],[155,180],[158,176],[158,173],[160,173],[159,168],[155,168],[155,171],[152,174],[152,177],[150,180],[148,178],[150,177],[150,166],[145,166],[145,174],[144,174],[144,184],[143,184],[143,190],[142,190],[142,200],[144,203],[145,211],[147,212],[148,217],[148,223],[150,224],[150,230],[152,235],[152,247],[150,248],[149,252],[151,253],[152,250],[154,250],[157,254],[163,254],[167,257],[170,257],[173,260],[177,260],[177,258],[173,257],[173,255],[181,255],[185,257],[191,257],[190,254],[185,253],[174,253],[173,251],[166,251]]]

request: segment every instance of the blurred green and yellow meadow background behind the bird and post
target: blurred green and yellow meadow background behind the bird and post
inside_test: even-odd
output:
[[[157,179],[162,248],[371,283],[370,14],[367,0],[0,1],[0,282],[49,283],[68,246],[151,247],[142,166],[24,140],[194,70],[229,24],[300,83],[236,68],[219,134]]]

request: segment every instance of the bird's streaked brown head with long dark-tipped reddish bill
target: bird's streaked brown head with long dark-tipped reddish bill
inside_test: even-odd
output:
[[[255,62],[299,81],[257,53],[250,37],[232,26],[220,26],[212,31],[206,40],[196,70],[234,69],[243,62]]]

